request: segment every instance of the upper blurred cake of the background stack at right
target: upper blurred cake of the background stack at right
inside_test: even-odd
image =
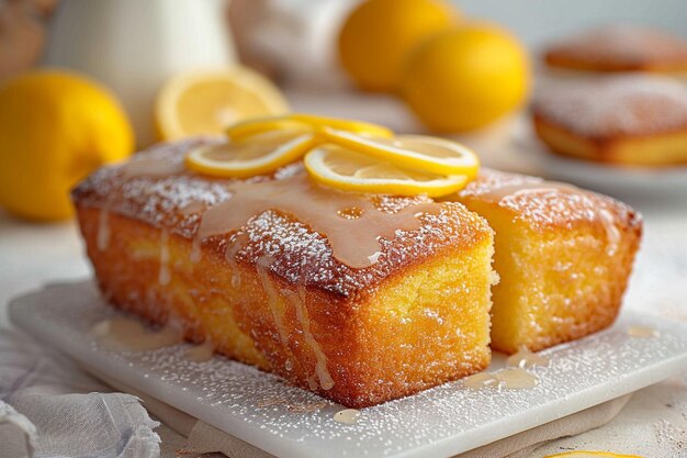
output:
[[[604,26],[550,46],[550,67],[584,71],[687,71],[687,42],[638,26]]]

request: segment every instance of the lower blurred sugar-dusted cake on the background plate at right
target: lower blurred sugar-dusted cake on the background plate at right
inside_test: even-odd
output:
[[[665,77],[552,87],[532,113],[537,135],[560,155],[623,166],[687,164],[687,88]]]

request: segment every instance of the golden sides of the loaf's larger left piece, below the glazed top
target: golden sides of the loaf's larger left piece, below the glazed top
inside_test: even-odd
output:
[[[491,232],[477,246],[447,246],[390,272],[374,289],[344,297],[313,286],[299,288],[274,271],[261,273],[255,264],[229,268],[212,248],[192,264],[191,241],[176,234],[167,241],[171,280],[160,284],[160,230],[113,214],[113,238],[100,250],[99,211],[79,208],[78,215],[99,282],[113,304],[153,323],[173,317],[187,338],[210,339],[218,353],[344,405],[373,405],[488,366]],[[293,298],[306,311],[326,360],[334,381],[329,390],[315,378],[317,358]]]

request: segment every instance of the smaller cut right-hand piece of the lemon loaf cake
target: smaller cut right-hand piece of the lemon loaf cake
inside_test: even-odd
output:
[[[610,198],[482,169],[458,200],[495,231],[492,348],[539,350],[609,326],[641,237]]]

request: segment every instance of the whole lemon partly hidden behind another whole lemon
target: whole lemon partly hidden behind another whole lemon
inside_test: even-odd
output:
[[[341,65],[361,89],[395,90],[408,52],[458,15],[440,0],[364,1],[339,33]]]

